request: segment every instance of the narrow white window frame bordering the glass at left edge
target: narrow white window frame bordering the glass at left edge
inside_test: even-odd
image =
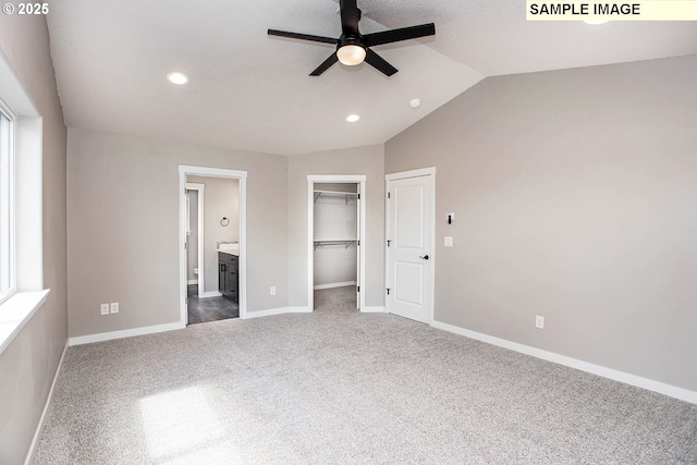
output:
[[[0,287],[0,303],[12,297],[16,291],[16,242],[15,242],[15,127],[16,117],[14,112],[0,99],[0,115],[4,117],[10,124],[9,140],[0,139],[0,228],[7,229],[2,231],[7,236],[0,235],[0,259],[3,271],[8,273],[9,283],[5,289]],[[0,123],[1,124],[1,123]],[[7,146],[5,146],[7,143]],[[7,152],[5,152],[7,150]],[[5,255],[8,253],[8,256]]]

